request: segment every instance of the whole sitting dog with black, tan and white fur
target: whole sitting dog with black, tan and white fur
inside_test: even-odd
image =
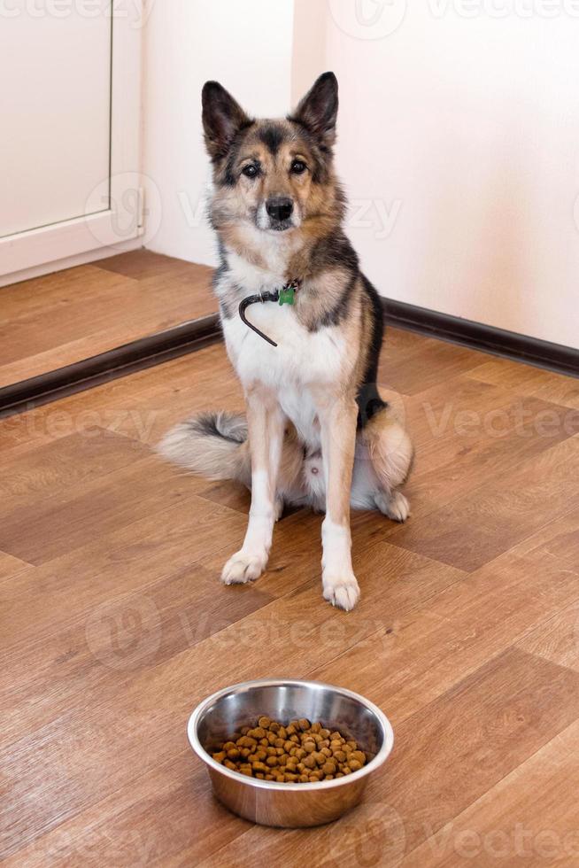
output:
[[[399,486],[413,446],[376,388],[381,301],[342,228],[336,76],[320,75],[282,120],[254,120],[217,81],[205,84],[202,104],[220,251],[213,288],[247,412],[197,415],[169,431],[160,452],[251,489],[247,532],[223,568],[225,584],[266,569],[286,504],[312,507],[326,514],[323,596],[350,610],[359,600],[350,508],[405,521]]]

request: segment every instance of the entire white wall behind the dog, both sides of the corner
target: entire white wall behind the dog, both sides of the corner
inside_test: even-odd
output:
[[[379,291],[579,345],[579,0],[158,2],[145,66],[151,249],[215,261],[206,79],[279,115],[334,69],[348,232]]]

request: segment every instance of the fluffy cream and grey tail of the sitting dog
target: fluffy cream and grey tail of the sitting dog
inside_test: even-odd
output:
[[[158,453],[208,479],[238,479],[251,484],[247,422],[241,414],[200,413],[167,431]]]

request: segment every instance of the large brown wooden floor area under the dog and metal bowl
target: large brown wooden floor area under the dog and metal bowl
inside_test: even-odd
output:
[[[6,866],[578,864],[579,381],[395,330],[380,378],[417,445],[413,515],[354,516],[350,614],[304,511],[266,575],[220,585],[247,495],[151,451],[242,406],[221,345],[1,422]],[[334,825],[236,818],[189,751],[198,701],[268,676],[392,721]]]

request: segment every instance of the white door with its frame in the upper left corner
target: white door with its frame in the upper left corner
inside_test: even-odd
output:
[[[141,233],[140,12],[0,6],[0,275]]]

